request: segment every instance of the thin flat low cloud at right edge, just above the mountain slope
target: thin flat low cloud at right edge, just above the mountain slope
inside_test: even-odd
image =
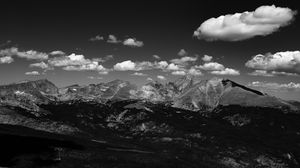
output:
[[[249,83],[248,86],[267,89],[267,90],[276,90],[276,91],[287,91],[287,90],[300,91],[300,83],[294,83],[294,82],[279,84],[276,82],[255,81]]]

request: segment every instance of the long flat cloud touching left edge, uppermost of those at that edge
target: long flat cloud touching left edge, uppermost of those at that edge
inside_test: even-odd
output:
[[[19,58],[26,58],[28,60],[46,60],[48,59],[48,54],[35,51],[35,50],[28,50],[28,51],[19,51],[16,47],[11,47],[7,49],[0,50],[0,56],[17,56]]]

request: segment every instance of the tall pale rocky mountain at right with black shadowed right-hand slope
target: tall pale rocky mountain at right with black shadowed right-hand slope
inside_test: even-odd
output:
[[[229,79],[212,78],[186,82],[174,106],[189,110],[213,109],[219,105],[240,105],[294,109],[279,98],[248,88]],[[182,85],[181,85],[182,86]]]

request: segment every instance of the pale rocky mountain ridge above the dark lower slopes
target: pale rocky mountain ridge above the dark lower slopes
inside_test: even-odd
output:
[[[212,78],[202,80],[184,76],[166,84],[149,82],[140,88],[119,79],[98,84],[69,85],[58,88],[47,79],[26,81],[0,86],[0,100],[47,104],[51,101],[84,100],[106,102],[107,100],[143,99],[150,102],[171,102],[173,107],[187,110],[212,110],[219,105],[241,105],[289,108],[299,107],[289,101],[248,88],[230,79]]]

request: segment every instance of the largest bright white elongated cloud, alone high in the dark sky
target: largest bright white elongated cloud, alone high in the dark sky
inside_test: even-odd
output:
[[[261,6],[252,12],[210,18],[200,25],[194,36],[207,41],[240,41],[266,36],[288,25],[295,15],[296,12],[289,8]]]

